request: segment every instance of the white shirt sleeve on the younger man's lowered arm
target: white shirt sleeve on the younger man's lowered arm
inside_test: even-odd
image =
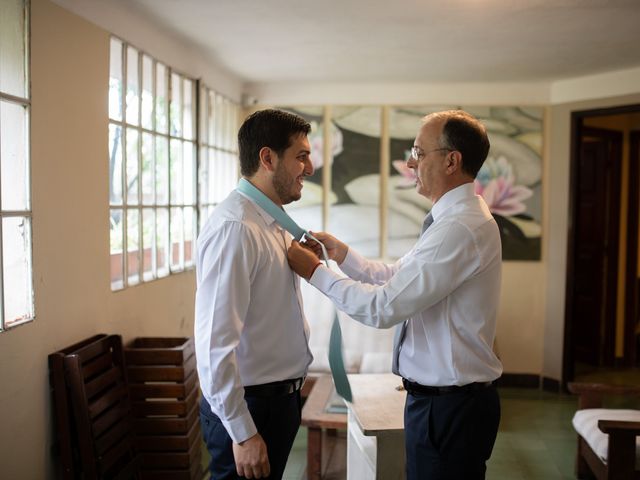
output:
[[[247,227],[226,222],[198,245],[195,346],[200,387],[236,443],[257,429],[244,400],[235,348],[251,296],[256,248]]]

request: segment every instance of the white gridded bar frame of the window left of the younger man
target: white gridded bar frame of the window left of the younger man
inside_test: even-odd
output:
[[[132,45],[130,42],[127,42],[126,40],[116,35],[111,35],[110,37],[111,46],[113,45],[114,41],[119,42],[120,44],[119,63],[120,63],[120,69],[121,69],[121,77],[120,77],[121,90],[120,90],[118,102],[119,102],[121,118],[120,119],[112,118],[111,111],[110,111],[108,114],[108,122],[109,122],[110,131],[112,127],[120,130],[121,140],[118,142],[117,148],[121,149],[121,154],[120,154],[121,160],[120,160],[120,165],[118,166],[120,170],[118,175],[114,175],[114,177],[112,178],[112,175],[110,172],[110,176],[109,176],[109,191],[110,191],[109,218],[110,220],[111,218],[113,218],[112,215],[115,211],[120,212],[121,227],[119,231],[119,237],[120,237],[120,243],[122,245],[122,248],[120,252],[121,257],[118,262],[119,273],[121,278],[117,278],[116,280],[114,280],[113,266],[111,266],[110,267],[110,284],[111,284],[112,291],[121,291],[132,286],[148,283],[154,280],[165,278],[170,275],[188,271],[194,268],[195,261],[193,258],[193,244],[195,243],[195,236],[197,235],[197,171],[198,171],[198,162],[199,162],[198,138],[197,138],[198,137],[198,131],[197,131],[198,81],[197,79],[189,75],[186,75],[180,72],[178,69],[175,69],[170,65],[162,62],[158,58],[147,53],[146,51]],[[136,69],[137,69],[136,116],[137,118],[133,120],[133,123],[132,121],[130,121],[130,119],[127,118],[127,101],[126,101],[127,91],[129,88],[128,68],[129,68],[130,51],[135,51],[137,55],[137,61],[136,61]],[[111,58],[111,56],[112,56],[112,52],[110,49],[110,62],[113,62],[113,59]],[[142,110],[143,96],[144,96],[143,92],[145,91],[144,76],[143,76],[145,59],[149,59],[151,61],[150,74],[151,74],[152,103],[151,103],[150,115],[152,120],[151,120],[150,126],[144,126],[143,110]],[[167,93],[167,97],[165,99],[166,105],[164,107],[164,110],[165,110],[164,113],[166,115],[166,125],[163,125],[162,127],[158,125],[158,116],[157,116],[157,105],[158,105],[157,88],[158,88],[158,75],[159,75],[158,67],[159,66],[162,66],[162,68],[164,69],[164,73],[162,76],[163,76],[163,82],[165,84],[165,92]],[[110,72],[109,72],[110,79],[112,78],[111,74],[112,72],[110,69]],[[179,132],[174,132],[172,130],[172,123],[173,123],[172,110],[174,108],[173,102],[175,101],[175,98],[178,96],[175,94],[173,89],[174,76],[177,77],[178,83],[180,86],[180,95],[179,95],[180,101],[178,105],[178,108],[179,108],[178,116],[180,116],[181,118],[180,118]],[[192,122],[192,128],[191,128],[192,136],[190,138],[186,137],[185,135],[185,118],[184,118],[185,103],[183,101],[185,85],[189,85],[191,90],[190,121]],[[136,135],[138,138],[137,145],[136,145],[136,152],[135,152],[135,155],[137,156],[137,162],[136,162],[137,163],[136,165],[137,185],[136,185],[136,192],[135,192],[136,200],[134,202],[131,202],[128,198],[129,189],[127,188],[127,167],[128,167],[127,162],[128,162],[128,155],[129,155],[129,152],[128,152],[129,145],[127,143],[127,136],[132,134],[132,132],[134,131],[136,132]],[[143,194],[143,189],[145,186],[143,185],[144,170],[143,170],[142,150],[143,150],[143,143],[144,143],[145,136],[148,136],[148,138],[150,138],[151,149],[152,149],[152,153],[150,154],[150,157],[151,157],[151,175],[153,177],[153,185],[152,185],[153,200],[151,202],[145,201],[144,194]],[[166,203],[159,203],[157,198],[158,170],[157,170],[156,162],[159,158],[159,155],[157,154],[156,147],[159,141],[163,142],[164,145],[166,146],[166,157],[164,158],[164,160],[166,161],[166,172],[165,172],[166,195],[167,195]],[[172,160],[174,159],[172,149],[176,144],[180,145],[182,149],[179,156],[180,168],[182,170],[182,173],[184,173],[184,170],[185,170],[185,161],[184,161],[185,148],[189,146],[191,150],[191,162],[192,162],[191,202],[184,201],[184,199],[182,201],[174,202],[172,197],[172,191],[173,191],[172,184],[174,183],[172,180]],[[111,148],[113,147],[110,145],[109,146],[109,162],[112,161]],[[116,180],[118,177],[120,180],[121,198],[120,198],[120,202],[114,202],[111,197],[112,180]],[[180,175],[180,178],[183,180],[182,187],[184,187],[183,175]],[[191,255],[189,258],[185,259],[186,228],[185,228],[184,218],[186,216],[185,213],[189,209],[192,212],[191,213],[192,221],[190,226],[191,235],[192,235],[192,238],[190,240]],[[151,240],[151,246],[149,247],[150,248],[150,264],[151,264],[150,270],[145,269],[146,267],[145,253],[146,253],[147,247],[145,246],[146,244],[144,242],[144,229],[145,229],[144,213],[146,211],[150,211],[153,216],[153,233],[151,234],[152,240]],[[136,239],[137,248],[131,252],[129,251],[129,239],[131,237],[129,236],[129,232],[128,232],[130,212],[137,212],[136,216],[137,216],[137,222],[138,222],[138,226],[137,226],[138,231],[137,231],[137,239]],[[167,218],[167,221],[166,221],[167,228],[165,229],[165,232],[164,232],[167,237],[166,241],[164,242],[164,247],[165,249],[167,249],[167,251],[164,254],[165,265],[163,265],[162,268],[158,268],[158,265],[157,265],[158,263],[157,251],[159,249],[159,245],[158,245],[159,212],[162,212],[163,215],[166,213],[166,218]],[[175,245],[173,242],[172,223],[174,222],[172,222],[172,216],[174,212],[179,212],[180,213],[179,217],[182,219],[182,227],[180,228],[180,239],[178,242],[178,261],[177,262],[173,261],[173,258],[174,258],[173,249]],[[115,255],[113,251],[112,241],[113,241],[113,238],[112,238],[111,229],[110,229],[109,258],[111,263],[114,262],[113,257]],[[134,255],[135,261],[137,262],[137,269],[135,273],[130,271],[130,268],[129,268],[129,262],[131,260],[130,257],[132,255]]]

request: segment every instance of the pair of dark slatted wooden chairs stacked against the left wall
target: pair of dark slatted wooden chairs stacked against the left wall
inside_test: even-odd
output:
[[[139,478],[119,335],[96,335],[49,355],[62,478]]]

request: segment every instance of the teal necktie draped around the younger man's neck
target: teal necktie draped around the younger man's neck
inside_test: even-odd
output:
[[[307,230],[294,222],[282,207],[273,203],[269,197],[244,178],[241,178],[240,182],[238,182],[237,190],[256,202],[260,208],[273,217],[278,225],[293,235],[295,240],[301,241],[303,237],[307,236],[318,242],[322,246],[324,260],[327,262],[327,266],[329,266],[327,251],[324,248],[324,245],[322,245],[322,242],[318,241],[318,239],[314,238]],[[333,383],[335,384],[336,392],[338,392],[338,395],[346,401],[351,402],[353,397],[351,395],[351,386],[349,385],[349,379],[347,378],[347,372],[344,368],[344,360],[342,358],[342,332],[340,330],[340,322],[338,322],[337,312],[333,318],[331,337],[329,339],[329,366],[331,367],[331,375],[333,376]]]

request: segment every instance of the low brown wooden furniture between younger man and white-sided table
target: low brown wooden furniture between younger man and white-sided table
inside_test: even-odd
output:
[[[346,413],[327,413],[326,407],[334,391],[330,375],[319,377],[302,409],[302,425],[307,427],[307,478],[320,480],[332,476],[331,470],[346,472],[346,440],[336,429],[347,428]]]

